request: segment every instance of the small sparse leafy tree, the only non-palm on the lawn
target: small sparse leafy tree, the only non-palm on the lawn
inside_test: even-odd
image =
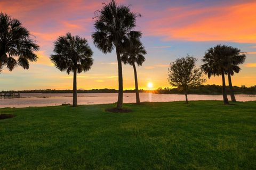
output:
[[[203,72],[200,69],[196,69],[196,61],[195,57],[187,55],[186,58],[178,58],[171,62],[168,68],[170,85],[182,88],[186,97],[186,103],[188,103],[188,89],[197,87],[205,82]]]

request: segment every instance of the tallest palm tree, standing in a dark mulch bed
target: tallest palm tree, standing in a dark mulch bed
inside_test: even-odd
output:
[[[115,0],[109,4],[104,4],[100,11],[96,12],[94,28],[96,32],[92,34],[94,45],[103,53],[111,53],[116,49],[118,64],[118,100],[117,108],[123,106],[123,74],[121,53],[123,41],[128,33],[135,27],[135,21],[140,14],[131,12],[129,6],[117,5]]]

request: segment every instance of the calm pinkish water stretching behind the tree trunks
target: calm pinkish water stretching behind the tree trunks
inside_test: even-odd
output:
[[[117,101],[117,93],[77,94],[78,105],[107,104]],[[188,95],[189,100],[222,100],[222,95]],[[230,97],[229,97],[230,99]],[[237,101],[256,100],[255,95],[236,95]],[[72,104],[72,94],[21,94],[21,98],[0,98],[0,108],[29,107],[29,106],[57,106],[63,103]],[[124,93],[124,103],[135,103],[134,93]],[[141,93],[140,101],[181,101],[185,95],[161,95]]]

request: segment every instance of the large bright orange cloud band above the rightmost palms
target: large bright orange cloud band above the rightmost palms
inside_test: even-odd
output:
[[[256,42],[256,2],[190,10],[150,22],[149,34],[164,40]],[[200,14],[198,17],[198,14]],[[170,19],[170,20],[169,20]]]

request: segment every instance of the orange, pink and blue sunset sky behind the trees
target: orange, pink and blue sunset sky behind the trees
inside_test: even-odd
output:
[[[19,19],[31,32],[41,49],[36,63],[29,70],[20,67],[0,74],[1,90],[72,89],[73,74],[56,69],[49,56],[53,41],[71,32],[85,37],[94,55],[92,69],[78,74],[77,88],[118,88],[116,54],[103,54],[92,42],[93,16],[100,10],[97,0],[30,1],[0,0],[0,11]],[[231,45],[247,52],[242,71],[233,77],[233,85],[256,85],[256,1],[171,1],[122,0],[133,12],[141,13],[135,30],[142,31],[142,43],[148,52],[146,62],[138,67],[139,88],[170,87],[167,67],[176,58],[186,54],[198,58],[205,50],[217,44]],[[132,66],[123,66],[124,89],[134,89]],[[207,79],[206,84],[221,84],[221,77]]]

